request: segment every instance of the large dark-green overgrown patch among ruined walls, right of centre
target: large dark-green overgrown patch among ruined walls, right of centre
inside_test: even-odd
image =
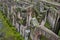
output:
[[[33,17],[36,17],[38,22],[41,23],[41,21],[45,18],[46,11],[40,12],[39,8],[36,6],[34,7]]]

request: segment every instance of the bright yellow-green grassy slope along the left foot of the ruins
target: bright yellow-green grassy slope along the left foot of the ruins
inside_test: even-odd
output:
[[[3,28],[0,30],[0,40],[24,40],[24,38],[16,31],[16,28],[7,23],[7,18],[0,11],[0,19],[2,19]]]

